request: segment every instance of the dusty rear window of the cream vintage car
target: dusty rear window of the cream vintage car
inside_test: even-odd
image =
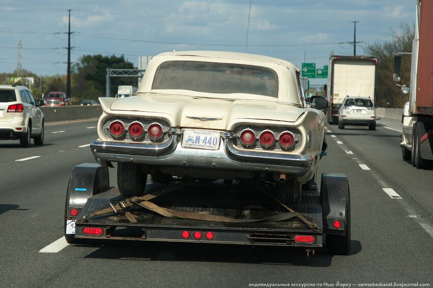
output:
[[[155,72],[152,89],[247,93],[278,97],[278,75],[270,68],[232,63],[167,61]]]

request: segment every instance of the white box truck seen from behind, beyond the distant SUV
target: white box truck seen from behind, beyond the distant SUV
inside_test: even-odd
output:
[[[338,123],[338,110],[346,96],[370,97],[374,103],[376,64],[375,57],[331,55],[326,87],[330,124]]]

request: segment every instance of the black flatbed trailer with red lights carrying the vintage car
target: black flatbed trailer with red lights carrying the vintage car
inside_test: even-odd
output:
[[[261,187],[261,186],[260,186]],[[298,246],[350,250],[350,192],[343,174],[322,174],[320,190],[303,191],[287,207],[273,185],[187,180],[148,184],[142,197],[110,187],[106,166],[75,166],[69,180],[64,233],[86,239]],[[324,237],[326,235],[326,237]],[[323,241],[326,239],[326,241]]]

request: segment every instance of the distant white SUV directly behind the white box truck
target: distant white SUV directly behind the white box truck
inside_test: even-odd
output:
[[[376,130],[376,111],[370,97],[344,98],[338,111],[338,128],[345,125],[366,125],[370,130]]]

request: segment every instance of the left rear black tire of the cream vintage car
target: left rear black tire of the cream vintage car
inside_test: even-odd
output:
[[[117,185],[124,197],[142,196],[146,188],[147,174],[136,163],[117,164]]]

